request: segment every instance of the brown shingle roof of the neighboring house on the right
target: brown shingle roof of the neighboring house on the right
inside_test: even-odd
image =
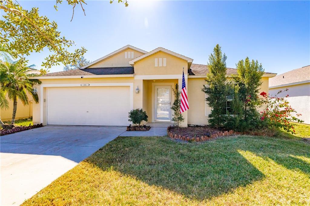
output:
[[[283,78],[284,76],[284,78]],[[279,74],[269,79],[269,87],[310,80],[310,65]]]

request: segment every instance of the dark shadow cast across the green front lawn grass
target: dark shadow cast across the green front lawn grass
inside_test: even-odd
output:
[[[165,137],[118,137],[86,161],[102,170],[112,167],[149,185],[203,200],[265,177],[238,150],[269,157],[288,169],[298,168],[309,174],[307,163],[290,156],[310,156],[310,147],[306,152],[307,148],[300,149],[300,144],[305,145],[287,139],[250,136],[188,144]]]

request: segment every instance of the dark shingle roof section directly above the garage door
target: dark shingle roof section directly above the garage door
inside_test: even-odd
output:
[[[134,73],[134,67],[106,67],[106,68],[88,68],[88,69],[74,69],[69,71],[59,71],[48,73],[43,76],[125,75],[133,73]]]

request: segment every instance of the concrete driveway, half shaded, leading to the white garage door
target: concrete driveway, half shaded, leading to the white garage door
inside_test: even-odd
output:
[[[45,126],[1,136],[1,205],[20,205],[125,130]]]

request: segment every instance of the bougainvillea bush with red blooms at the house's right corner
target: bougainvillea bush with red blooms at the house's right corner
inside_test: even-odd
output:
[[[282,128],[283,130],[295,134],[293,125],[290,123],[294,122],[303,122],[302,120],[296,118],[294,115],[299,117],[301,114],[297,114],[296,110],[293,109],[287,97],[278,97],[277,95],[286,92],[288,89],[282,91],[280,90],[276,95],[269,97],[266,92],[261,92],[260,95],[263,97],[261,103],[266,105],[261,113],[260,120],[267,122],[269,128]]]

